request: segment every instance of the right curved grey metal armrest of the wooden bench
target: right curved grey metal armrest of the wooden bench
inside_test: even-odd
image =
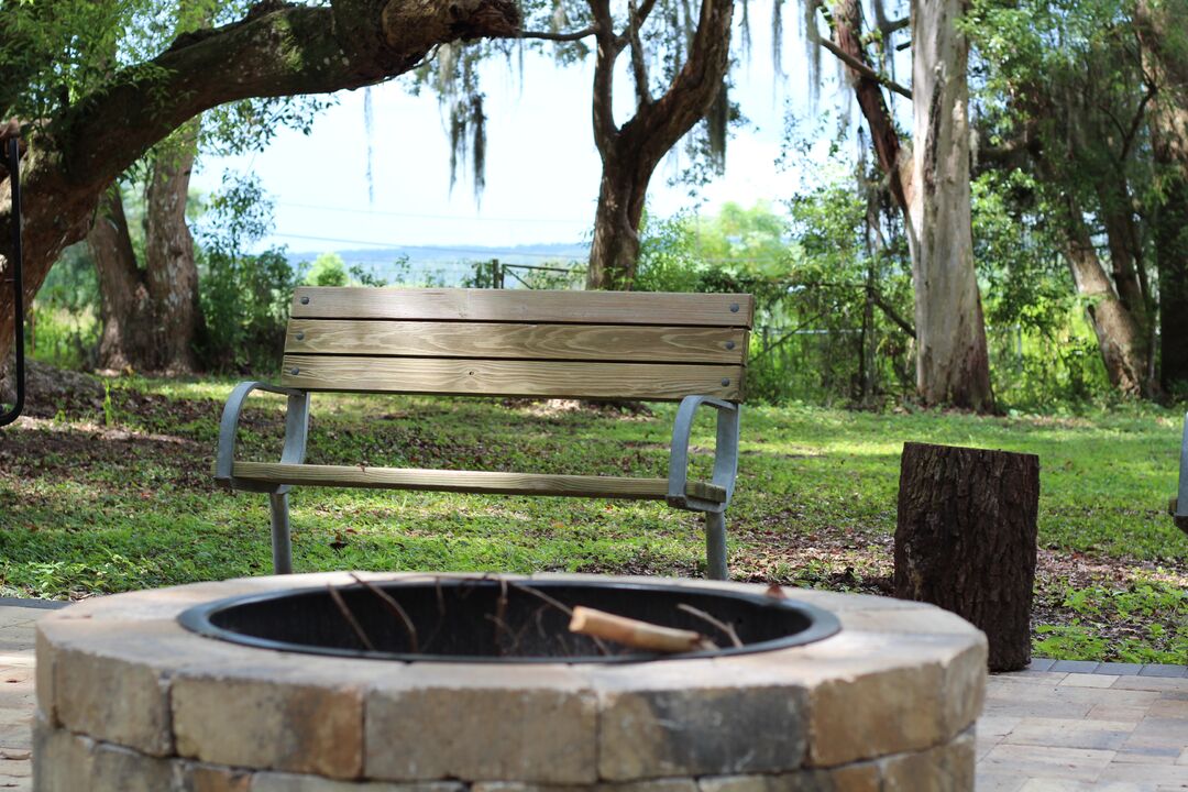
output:
[[[726,490],[721,503],[691,498],[685,494],[689,481],[689,435],[697,407],[707,405],[718,410],[718,443],[714,448],[715,486]],[[672,424],[672,446],[669,451],[668,503],[694,512],[726,511],[734,494],[734,476],[739,468],[739,405],[707,395],[690,395],[681,400]]]

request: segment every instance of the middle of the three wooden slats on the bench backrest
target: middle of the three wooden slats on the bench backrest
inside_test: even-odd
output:
[[[285,351],[742,365],[742,328],[293,319]]]

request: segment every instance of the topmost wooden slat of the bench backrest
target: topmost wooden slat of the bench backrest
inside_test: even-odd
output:
[[[290,316],[748,328],[753,313],[751,294],[303,286]]]

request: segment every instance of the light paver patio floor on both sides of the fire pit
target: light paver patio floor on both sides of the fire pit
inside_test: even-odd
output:
[[[32,790],[33,623],[44,613],[0,602],[2,792]],[[1041,667],[1054,670],[991,677],[978,721],[978,792],[1188,790],[1188,670]]]

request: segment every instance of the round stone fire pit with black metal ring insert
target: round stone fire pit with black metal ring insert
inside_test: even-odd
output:
[[[972,790],[981,634],[930,606],[786,595],[304,575],[91,600],[39,623],[37,788]],[[568,632],[575,606],[719,648],[594,641]]]

